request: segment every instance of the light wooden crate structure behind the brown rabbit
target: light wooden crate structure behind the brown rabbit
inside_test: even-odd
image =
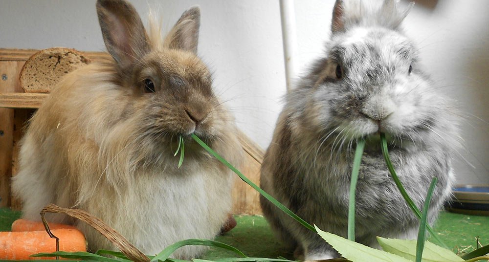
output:
[[[10,180],[17,174],[18,141],[25,122],[49,94],[24,93],[19,73],[25,61],[38,50],[0,49],[0,207],[20,210],[21,203],[12,197]],[[103,52],[84,52],[92,61],[107,57]],[[264,151],[244,133],[240,134],[245,164],[242,172],[259,184]],[[259,194],[238,176],[232,192],[234,214],[262,214]]]

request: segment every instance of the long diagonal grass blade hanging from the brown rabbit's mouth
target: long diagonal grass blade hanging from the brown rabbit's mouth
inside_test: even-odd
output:
[[[233,167],[229,162],[227,162],[222,156],[220,156],[218,153],[214,152],[209,146],[207,146],[200,138],[192,134],[192,138],[201,146],[203,147],[207,152],[211,153],[214,157],[216,157],[219,161],[221,161],[222,164],[224,164],[226,167],[231,169],[236,175],[238,175],[246,184],[250,185],[252,188],[254,188],[258,193],[260,193],[262,196],[267,198],[270,202],[272,202],[275,206],[280,208],[280,210],[284,211],[287,215],[290,217],[294,218],[297,220],[299,223],[301,223],[303,226],[308,228],[311,231],[316,231],[313,226],[311,226],[308,222],[306,222],[304,219],[299,218],[299,216],[295,215],[294,212],[290,211],[286,206],[284,206],[282,203],[277,201],[277,199],[273,198],[273,196],[270,196],[267,192],[265,192],[263,189],[261,189],[259,186],[257,186],[255,183],[251,182],[246,176],[244,176],[239,170],[237,170],[235,167]]]

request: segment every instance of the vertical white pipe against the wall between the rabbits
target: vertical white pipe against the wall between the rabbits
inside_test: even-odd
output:
[[[296,75],[294,57],[297,49],[295,30],[294,0],[280,0],[280,18],[282,21],[282,42],[284,45],[285,77],[287,92],[292,88],[292,79]]]

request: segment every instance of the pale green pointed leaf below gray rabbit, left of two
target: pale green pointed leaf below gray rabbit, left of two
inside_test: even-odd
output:
[[[403,257],[374,249],[334,234],[324,232],[316,226],[316,231],[343,257],[354,262],[411,262]]]

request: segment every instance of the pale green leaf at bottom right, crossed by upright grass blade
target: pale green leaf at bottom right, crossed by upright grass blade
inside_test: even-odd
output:
[[[386,252],[396,254],[411,261],[416,258],[416,240],[384,239],[377,237],[377,241]],[[464,261],[452,251],[435,245],[430,241],[424,244],[422,262],[460,262]]]

